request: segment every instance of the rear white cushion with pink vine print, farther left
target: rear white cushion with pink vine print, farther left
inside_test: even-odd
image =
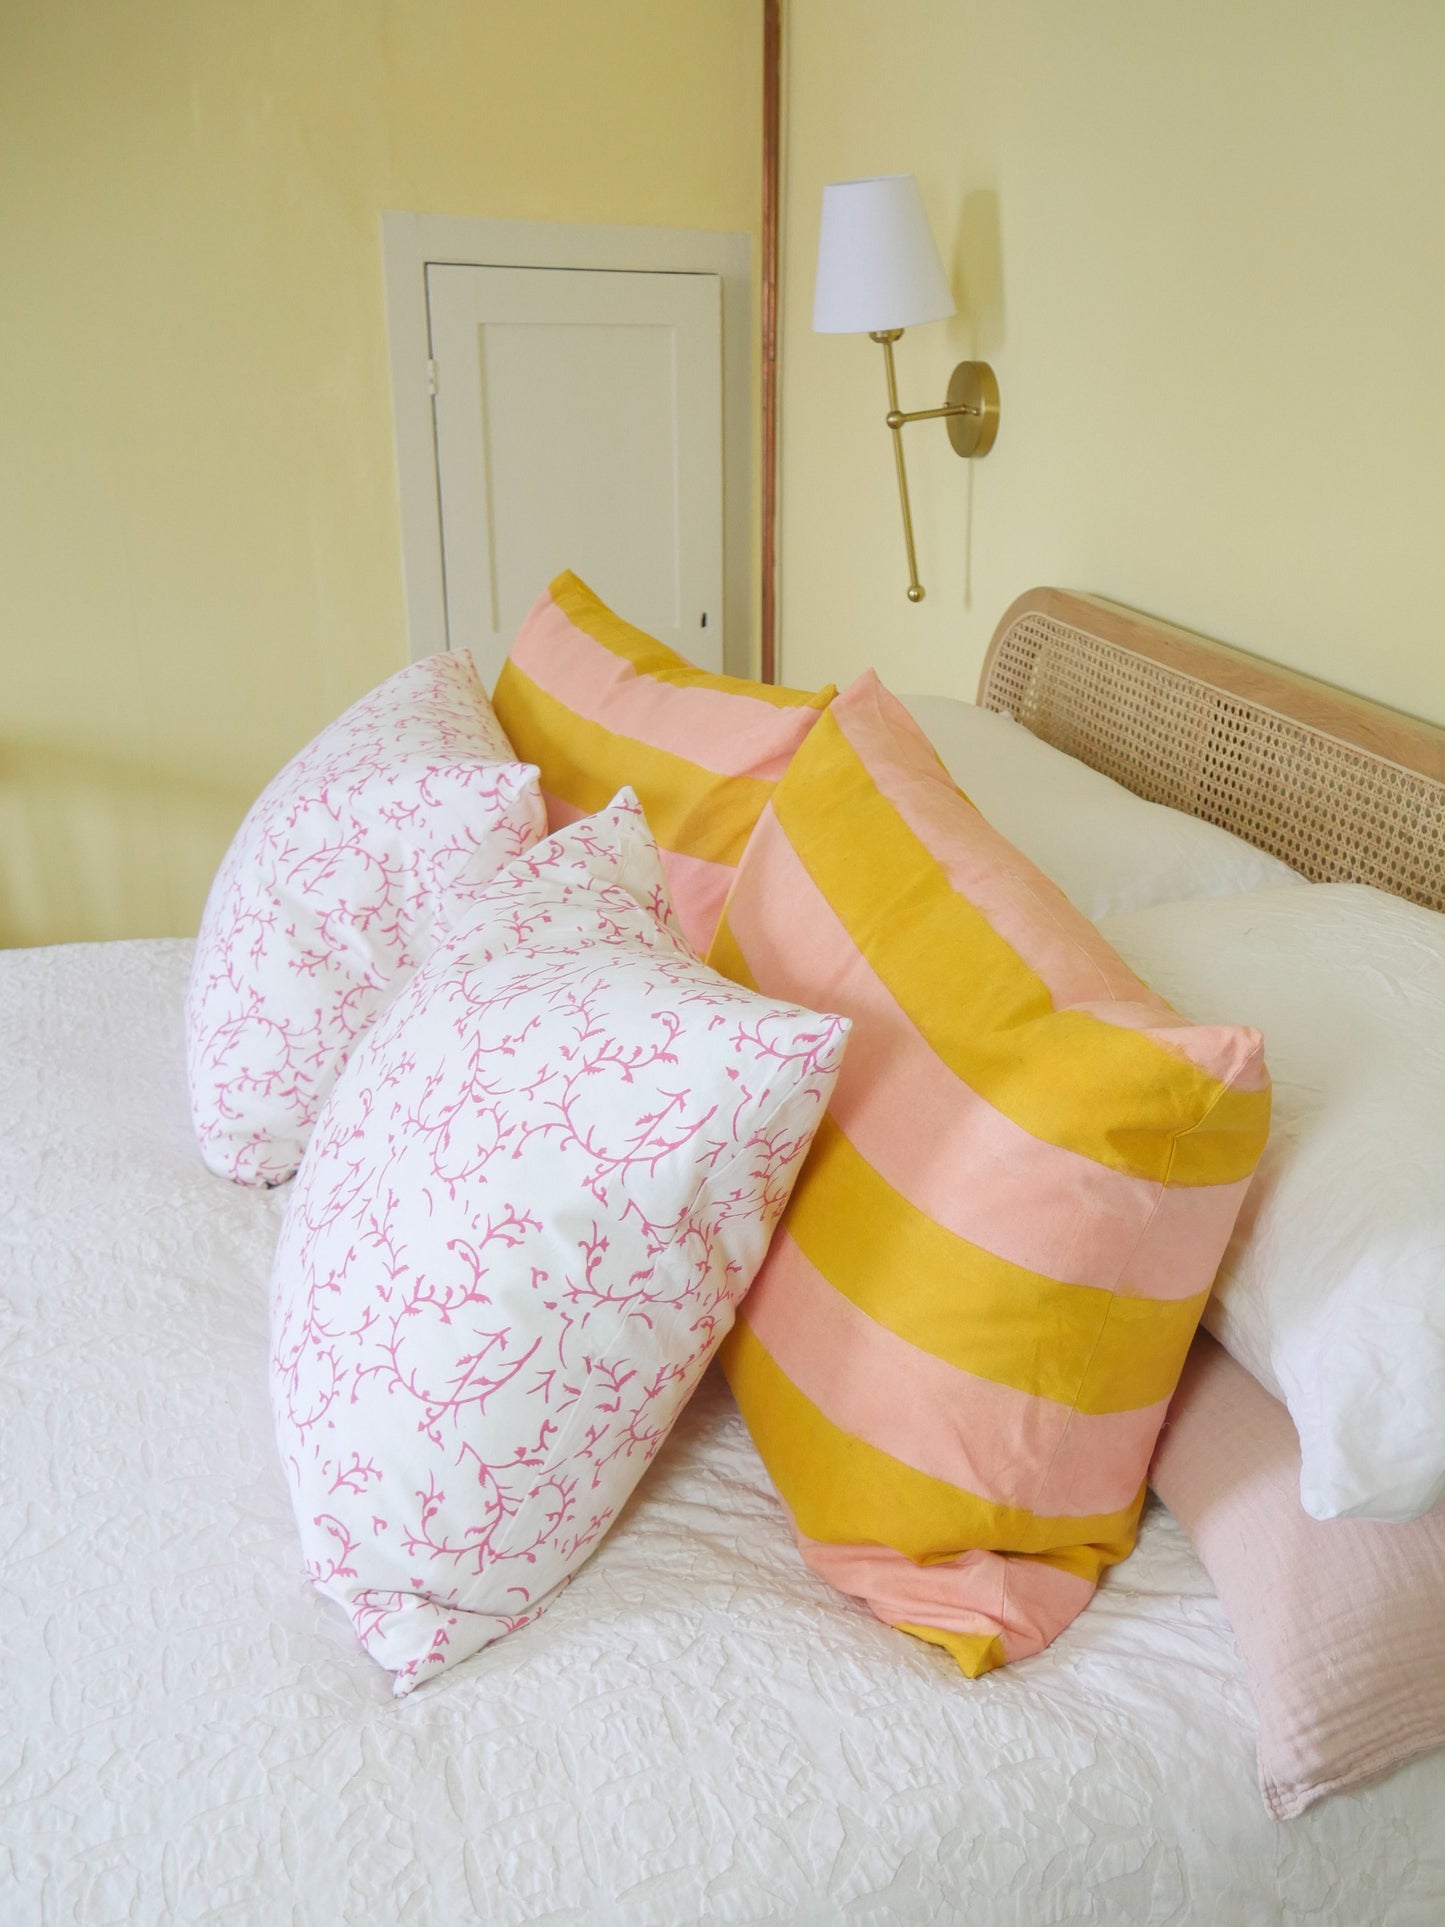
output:
[[[268,782],[210,888],[185,1006],[212,1172],[293,1175],[356,1037],[545,829],[468,655],[399,671]]]

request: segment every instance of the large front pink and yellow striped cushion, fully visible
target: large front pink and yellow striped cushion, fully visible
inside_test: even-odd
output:
[[[722,1353],[803,1555],[969,1675],[1038,1651],[1133,1547],[1268,1131],[1260,1037],[1139,983],[873,674],[709,964],[854,1019]]]

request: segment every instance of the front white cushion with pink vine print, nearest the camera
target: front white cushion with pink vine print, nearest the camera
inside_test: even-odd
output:
[[[360,1041],[281,1231],[272,1395],[306,1572],[399,1694],[607,1532],[846,1035],[694,958],[624,790],[509,865]]]

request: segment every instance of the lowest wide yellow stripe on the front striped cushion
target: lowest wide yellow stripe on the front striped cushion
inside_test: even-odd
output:
[[[1089,1518],[1046,1518],[988,1505],[840,1432],[778,1370],[753,1335],[746,1305],[721,1357],[773,1484],[811,1540],[890,1545],[921,1565],[973,1547],[1019,1553],[1069,1547],[1071,1559],[1096,1557],[1102,1567],[1133,1549],[1143,1486],[1123,1511]]]

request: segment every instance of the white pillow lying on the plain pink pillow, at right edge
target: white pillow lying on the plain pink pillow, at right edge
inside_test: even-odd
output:
[[[1254,1023],[1274,1125],[1204,1324],[1300,1441],[1314,1518],[1445,1497],[1445,917],[1320,883],[1106,917],[1202,1023]]]

